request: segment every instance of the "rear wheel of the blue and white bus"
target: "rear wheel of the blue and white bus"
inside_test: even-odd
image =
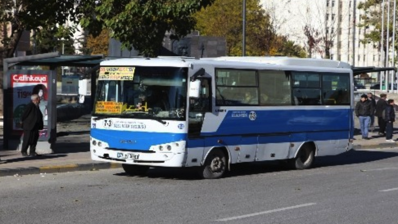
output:
[[[297,153],[296,158],[289,160],[293,169],[304,170],[309,169],[314,164],[315,150],[311,145],[304,144]]]

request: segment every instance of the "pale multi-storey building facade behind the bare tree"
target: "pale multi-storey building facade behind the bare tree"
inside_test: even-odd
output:
[[[305,47],[312,58],[330,58],[353,66],[382,66],[381,53],[373,43],[364,44],[360,28],[366,0],[260,0],[271,14],[279,34]],[[310,38],[312,37],[312,38]],[[312,39],[312,43],[310,44]]]

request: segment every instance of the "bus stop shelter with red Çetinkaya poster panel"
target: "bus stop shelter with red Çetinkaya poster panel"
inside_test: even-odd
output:
[[[37,89],[45,98],[45,133],[40,133],[37,149],[39,153],[52,153],[56,142],[56,77],[62,66],[90,68],[84,74],[91,78],[91,95],[95,95],[96,70],[103,55],[61,55],[59,52],[29,55],[3,60],[3,145],[4,149],[20,150],[22,129],[18,126],[18,115],[30,95]],[[18,69],[21,67],[48,66],[49,70]],[[22,102],[22,103],[21,103]],[[21,106],[18,108],[16,104]],[[92,105],[91,105],[92,107]],[[42,111],[43,112],[43,111]]]

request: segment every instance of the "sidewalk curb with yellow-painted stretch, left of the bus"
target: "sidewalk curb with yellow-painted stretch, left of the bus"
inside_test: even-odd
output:
[[[73,171],[93,171],[103,169],[120,168],[122,164],[119,163],[84,163],[84,164],[66,164],[59,166],[40,166],[40,167],[23,167],[12,169],[0,169],[0,177],[14,176],[14,175],[29,175],[41,173],[65,173]]]

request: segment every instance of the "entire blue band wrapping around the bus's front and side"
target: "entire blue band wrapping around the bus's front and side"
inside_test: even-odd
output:
[[[187,146],[191,148],[256,144],[257,142],[264,144],[343,140],[352,138],[354,132],[352,109],[255,111],[254,120],[249,119],[250,112],[243,110],[227,112],[219,127],[214,127],[215,131],[202,132],[200,139],[190,139]],[[206,120],[205,117],[205,122],[211,122],[211,120]],[[181,133],[149,133],[95,128],[91,129],[91,136],[107,142],[110,148],[131,150],[149,150],[151,145],[187,139],[187,134]],[[222,143],[217,143],[219,139]],[[122,143],[123,140],[134,140],[134,143]]]

